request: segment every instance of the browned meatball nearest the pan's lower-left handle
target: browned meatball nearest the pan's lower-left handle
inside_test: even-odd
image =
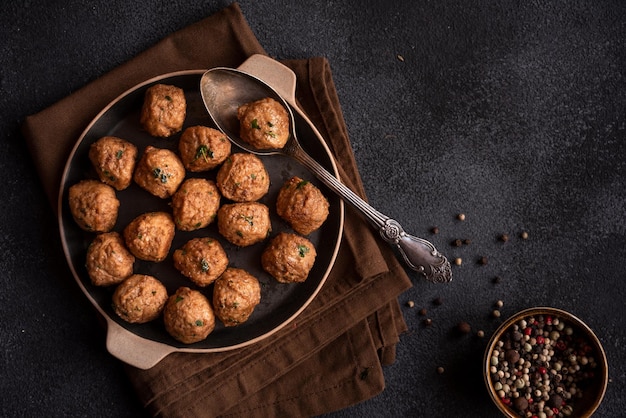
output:
[[[113,309],[123,320],[143,324],[156,319],[167,302],[167,289],[152,276],[133,274],[113,293]]]

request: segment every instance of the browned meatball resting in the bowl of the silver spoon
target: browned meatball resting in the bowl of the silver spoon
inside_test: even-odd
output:
[[[289,114],[272,98],[239,106],[237,118],[239,136],[255,148],[282,148],[289,139]]]

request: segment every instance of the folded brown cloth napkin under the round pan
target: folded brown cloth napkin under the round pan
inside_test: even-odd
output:
[[[255,53],[265,52],[233,3],[29,116],[23,133],[53,208],[71,148],[112,99],[159,74],[237,67]],[[297,100],[328,141],[342,181],[364,196],[328,62],[283,63],[296,73]],[[347,209],[332,272],[293,323],[242,349],[174,353],[149,370],[128,366],[128,376],[154,416],[296,417],[338,410],[383,390],[382,365],[395,360],[406,331],[397,296],[410,286],[393,251]]]

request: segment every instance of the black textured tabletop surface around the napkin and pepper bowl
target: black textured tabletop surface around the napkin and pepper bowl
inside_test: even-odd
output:
[[[229,3],[2,2],[0,416],[143,414],[66,266],[21,122]],[[464,260],[448,285],[412,274],[385,391],[332,416],[497,416],[481,377],[488,336],[537,305],[594,329],[611,377],[598,416],[624,416],[626,3],[240,5],[273,57],[329,59],[373,206]],[[462,320],[487,336],[455,335]]]

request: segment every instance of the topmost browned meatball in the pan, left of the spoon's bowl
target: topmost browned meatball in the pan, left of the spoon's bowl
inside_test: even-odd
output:
[[[152,136],[167,138],[183,128],[187,101],[183,89],[155,84],[146,90],[141,108],[141,126]]]

